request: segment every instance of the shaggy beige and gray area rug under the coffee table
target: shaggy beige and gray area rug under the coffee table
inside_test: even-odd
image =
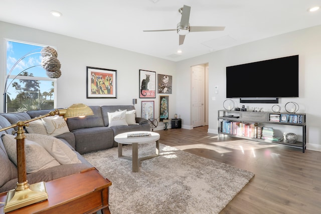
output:
[[[111,180],[111,213],[219,213],[254,176],[252,172],[160,144],[159,156],[143,160],[132,172],[118,148],[83,156]],[[140,144],[139,157],[155,144]],[[123,146],[131,156],[131,145]]]

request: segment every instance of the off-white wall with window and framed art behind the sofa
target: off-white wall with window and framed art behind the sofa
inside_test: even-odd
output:
[[[57,79],[58,108],[68,107],[74,103],[84,103],[86,105],[132,105],[132,99],[136,98],[137,104],[135,108],[138,116],[141,113],[141,101],[153,100],[154,115],[155,118],[158,118],[159,94],[156,93],[155,99],[139,99],[139,69],[154,71],[156,74],[172,75],[173,85],[176,84],[175,63],[169,60],[5,22],[0,22],[0,38],[1,77],[4,77],[5,74],[5,39],[57,47],[62,72],[61,77]],[[117,70],[117,99],[87,99],[87,66]],[[1,78],[0,83],[0,111],[3,112],[5,80]],[[169,96],[169,113],[174,115],[176,112],[176,103],[174,102],[177,96],[176,91],[173,90],[173,94],[169,94]],[[159,123],[158,126],[163,128],[162,123]]]

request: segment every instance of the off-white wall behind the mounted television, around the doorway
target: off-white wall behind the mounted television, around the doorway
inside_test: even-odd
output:
[[[281,112],[285,112],[287,102],[298,103],[300,113],[306,113],[307,123],[307,149],[321,151],[321,104],[319,92],[321,91],[321,26],[307,28],[263,40],[243,44],[240,46],[216,51],[203,56],[180,61],[176,63],[176,78],[182,81],[177,83],[178,96],[177,107],[185,119],[186,127],[191,127],[189,94],[190,87],[189,70],[193,65],[209,63],[209,129],[210,133],[217,133],[217,111],[223,109],[226,99],[226,67],[261,60],[299,55],[299,98],[280,98]],[[277,74],[271,71],[266,79],[261,81],[275,80]],[[273,81],[271,84],[284,84],[282,80]],[[219,87],[218,94],[214,92],[214,86]],[[240,83],[240,90],[250,90],[251,86]],[[237,106],[241,106],[238,99],[234,99]],[[180,105],[178,105],[178,103]],[[244,104],[247,109],[261,107],[263,111],[272,111],[273,104]],[[291,131],[292,126],[286,126],[286,132]],[[301,135],[301,133],[297,133]]]

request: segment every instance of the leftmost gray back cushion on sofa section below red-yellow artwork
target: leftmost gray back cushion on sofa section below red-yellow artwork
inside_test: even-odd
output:
[[[104,126],[100,106],[89,106],[89,107],[94,112],[94,115],[90,115],[86,117],[74,117],[74,118],[67,119],[67,124],[70,131],[83,129],[83,128]]]

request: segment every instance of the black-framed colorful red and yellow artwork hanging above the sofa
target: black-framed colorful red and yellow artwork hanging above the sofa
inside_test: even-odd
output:
[[[87,98],[117,98],[117,70],[87,66]]]

